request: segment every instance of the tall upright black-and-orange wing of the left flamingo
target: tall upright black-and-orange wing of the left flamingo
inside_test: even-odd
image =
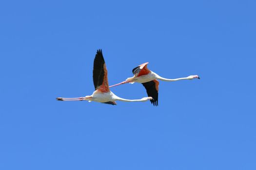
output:
[[[93,83],[95,90],[108,92],[108,71],[101,50],[97,50],[93,65]]]

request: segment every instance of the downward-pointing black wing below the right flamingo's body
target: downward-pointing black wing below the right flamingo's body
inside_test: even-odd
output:
[[[157,80],[153,80],[147,83],[142,83],[142,85],[146,88],[148,97],[152,97],[154,100],[150,100],[151,103],[158,106],[158,85],[159,82]]]

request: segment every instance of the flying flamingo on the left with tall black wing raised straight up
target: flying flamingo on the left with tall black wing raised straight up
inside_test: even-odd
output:
[[[147,100],[153,100],[152,97],[144,97],[138,100],[122,99],[116,96],[112,91],[109,90],[108,86],[108,71],[103,58],[101,50],[97,50],[94,67],[93,67],[93,83],[95,91],[90,96],[79,97],[79,98],[56,98],[58,101],[88,101],[88,102],[101,102],[106,104],[117,105],[115,101],[123,102],[146,102]]]

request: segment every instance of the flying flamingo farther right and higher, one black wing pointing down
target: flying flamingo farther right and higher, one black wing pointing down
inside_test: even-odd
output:
[[[174,82],[178,80],[192,80],[192,79],[200,79],[198,75],[190,75],[188,77],[182,77],[177,79],[166,79],[155,72],[149,70],[147,68],[148,62],[143,63],[139,65],[138,67],[133,69],[133,77],[127,78],[125,81],[118,83],[116,85],[111,85],[109,87],[114,87],[117,85],[122,85],[126,83],[134,84],[135,82],[141,83],[147,91],[148,96],[153,97],[153,100],[150,100],[151,103],[154,104],[154,106],[158,106],[158,80],[166,81],[166,82]]]

